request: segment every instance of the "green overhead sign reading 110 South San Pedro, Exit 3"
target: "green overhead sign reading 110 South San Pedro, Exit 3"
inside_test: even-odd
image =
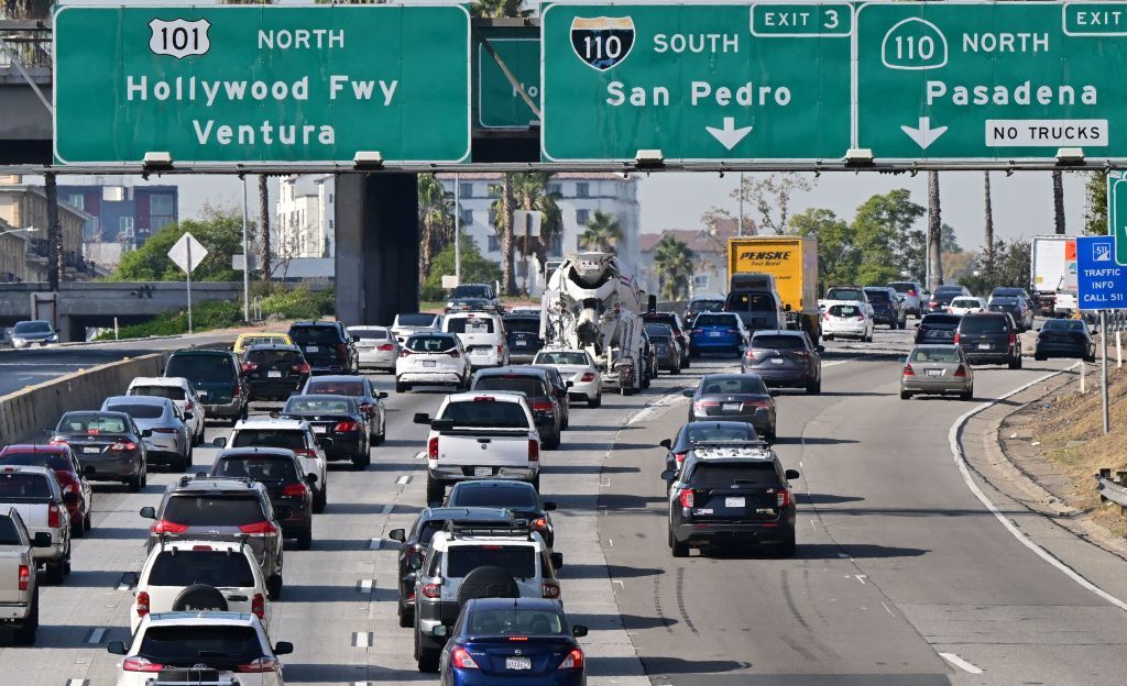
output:
[[[840,159],[852,24],[844,2],[545,6],[541,154]]]

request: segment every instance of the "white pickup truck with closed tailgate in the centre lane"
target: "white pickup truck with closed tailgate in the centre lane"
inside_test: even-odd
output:
[[[516,479],[540,490],[540,434],[523,393],[447,395],[435,418],[419,412],[427,436],[428,505],[442,504],[446,487],[472,479]]]

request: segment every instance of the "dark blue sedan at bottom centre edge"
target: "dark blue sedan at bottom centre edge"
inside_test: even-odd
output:
[[[442,651],[442,684],[585,686],[585,658],[576,642],[585,635],[587,627],[570,626],[558,600],[469,600]]]

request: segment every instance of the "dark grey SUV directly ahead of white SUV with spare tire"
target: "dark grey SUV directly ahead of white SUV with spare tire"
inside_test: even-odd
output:
[[[169,484],[156,508],[141,508],[156,519],[149,528],[149,551],[171,541],[246,541],[266,579],[272,600],[282,595],[282,525],[266,487],[250,479],[180,476]]]

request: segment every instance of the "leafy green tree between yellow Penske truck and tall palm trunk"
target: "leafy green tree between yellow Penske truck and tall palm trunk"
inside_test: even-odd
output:
[[[902,271],[919,278],[924,273],[926,237],[915,223],[926,208],[912,202],[906,188],[875,195],[857,210],[851,229],[861,252],[857,280],[885,284]]]

